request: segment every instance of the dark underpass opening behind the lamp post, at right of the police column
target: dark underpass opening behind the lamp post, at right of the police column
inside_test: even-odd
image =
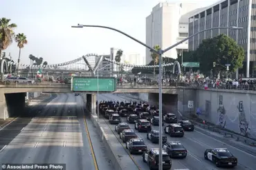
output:
[[[163,114],[174,113],[178,111],[178,94],[162,94]],[[159,94],[149,94],[149,104],[158,105]]]

